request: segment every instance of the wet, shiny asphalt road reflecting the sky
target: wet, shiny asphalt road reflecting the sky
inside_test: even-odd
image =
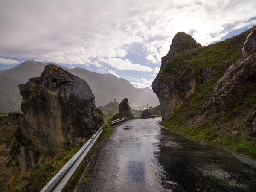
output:
[[[165,128],[128,120],[102,143],[84,191],[256,191],[256,161]]]

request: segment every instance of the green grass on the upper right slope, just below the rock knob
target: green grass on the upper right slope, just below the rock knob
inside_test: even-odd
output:
[[[230,64],[235,64],[244,57],[241,50],[249,33],[250,30],[225,41],[181,52],[166,62],[160,74],[166,74],[176,82],[180,72],[188,68],[191,71],[186,76],[187,79],[202,79],[202,70],[211,67],[221,76]]]

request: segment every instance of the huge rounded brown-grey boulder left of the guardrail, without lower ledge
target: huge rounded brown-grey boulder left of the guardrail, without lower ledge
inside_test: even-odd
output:
[[[103,125],[89,85],[61,67],[47,65],[40,77],[19,87],[23,126],[16,137],[34,151],[54,156]]]

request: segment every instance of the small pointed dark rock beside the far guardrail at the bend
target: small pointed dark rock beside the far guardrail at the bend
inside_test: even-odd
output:
[[[134,118],[134,115],[131,112],[127,98],[123,99],[122,102],[119,104],[119,112],[113,116],[111,121],[120,119],[123,117],[128,117],[128,119]]]

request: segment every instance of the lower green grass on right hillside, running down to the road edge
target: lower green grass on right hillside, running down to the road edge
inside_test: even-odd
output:
[[[190,95],[186,102],[177,110],[174,110],[171,118],[160,124],[178,133],[186,134],[193,139],[210,143],[215,146],[224,147],[251,158],[256,158],[256,138],[252,135],[230,135],[215,133],[221,127],[221,123],[229,121],[239,112],[238,107],[233,107],[224,114],[211,114],[206,111],[204,116],[212,116],[212,120],[206,121],[198,126],[191,126],[188,119],[200,115],[206,103],[205,98],[215,85],[215,81],[198,86],[195,93]],[[220,121],[219,123],[217,123]],[[244,125],[250,125],[252,119],[247,119]]]

